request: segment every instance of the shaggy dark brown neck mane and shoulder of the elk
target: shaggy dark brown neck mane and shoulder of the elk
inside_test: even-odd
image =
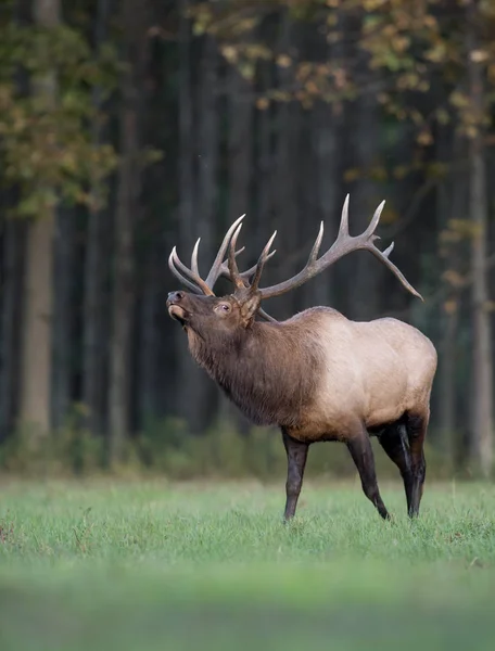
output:
[[[226,395],[255,424],[297,426],[318,378],[317,349],[302,345],[301,326],[253,322],[234,336],[206,339],[188,328],[189,347]]]

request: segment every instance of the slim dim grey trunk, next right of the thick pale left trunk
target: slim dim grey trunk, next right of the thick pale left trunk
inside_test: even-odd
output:
[[[94,25],[94,50],[99,52],[106,34],[110,0],[99,0]],[[101,90],[96,87],[92,104],[97,112],[101,108]],[[102,128],[96,122],[92,126],[94,146],[103,140]],[[85,297],[82,329],[82,403],[88,410],[86,423],[91,432],[102,434],[104,427],[105,370],[107,358],[104,345],[105,297],[105,226],[107,212],[99,204],[98,191],[93,187],[94,204],[88,215],[88,231],[85,259]]]

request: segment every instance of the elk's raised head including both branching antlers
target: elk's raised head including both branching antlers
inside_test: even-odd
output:
[[[216,336],[227,333],[239,335],[240,332],[252,327],[256,316],[267,321],[276,322],[261,307],[262,301],[280,296],[302,285],[344,255],[358,250],[372,253],[398,278],[411,294],[422,299],[421,295],[410,285],[399,269],[389,259],[394,246],[393,243],[383,252],[375,245],[375,241],[379,239],[375,234],[375,231],[384,204],[385,202],[382,202],[378,206],[368,228],[360,235],[352,237],[348,232],[347,195],[342,209],[339,233],[332,246],[321,257],[318,257],[323,237],[323,222],[321,222],[318,237],[304,268],[289,280],[264,289],[259,288],[259,280],[265,263],[275,254],[275,251],[270,252],[270,247],[277,231],[275,231],[262,251],[256,265],[241,273],[236,258],[244,248],[236,251],[236,245],[244,215],[239,217],[227,231],[205,280],[201,278],[198,268],[200,240],[194,245],[190,268],[180,261],[174,246],[168,258],[168,266],[172,272],[192,293],[170,292],[167,299],[168,314],[178,320],[188,332],[192,331],[204,340],[210,339],[213,332],[216,333]],[[228,257],[224,260],[227,248]],[[223,297],[215,296],[213,288],[220,276],[228,278],[234,285],[236,289],[232,294]]]

